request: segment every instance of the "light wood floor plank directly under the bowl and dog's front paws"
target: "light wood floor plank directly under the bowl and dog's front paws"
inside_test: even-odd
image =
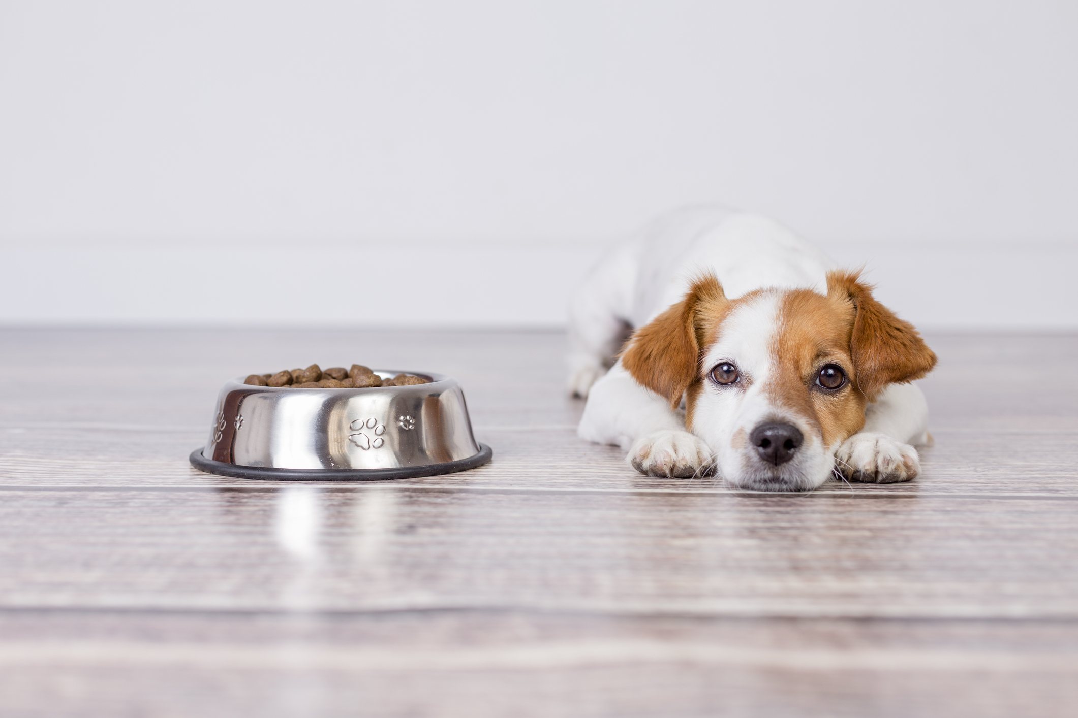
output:
[[[480,426],[476,436],[495,449],[488,466],[400,485],[734,491],[714,479],[641,476],[624,463],[620,449],[582,441],[571,426]],[[817,493],[1078,496],[1078,435],[943,430],[935,437],[936,446],[922,451],[924,473],[913,482],[873,485],[835,480]],[[186,456],[204,440],[199,430],[137,425],[0,427],[0,487],[262,485],[192,469]]]

